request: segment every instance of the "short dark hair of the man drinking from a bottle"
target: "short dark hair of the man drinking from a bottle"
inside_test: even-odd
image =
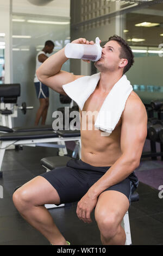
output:
[[[118,36],[118,35],[110,36],[109,41],[112,41],[112,40],[117,41],[118,44],[121,46],[120,59],[124,58],[128,60],[128,64],[123,69],[123,75],[124,75],[124,73],[126,73],[134,63],[134,54],[131,48],[129,47],[129,45],[127,44],[127,42],[123,38],[121,38],[121,36]]]

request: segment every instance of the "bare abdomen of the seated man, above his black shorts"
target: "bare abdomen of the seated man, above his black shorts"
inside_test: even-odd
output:
[[[80,130],[82,161],[92,166],[112,166],[122,155],[120,147],[121,125],[110,136],[102,136],[101,130]]]

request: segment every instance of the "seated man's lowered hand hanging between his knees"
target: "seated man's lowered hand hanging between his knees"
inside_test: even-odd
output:
[[[77,215],[78,218],[85,223],[91,223],[91,212],[97,204],[97,197],[90,197],[89,192],[87,192],[77,205]]]

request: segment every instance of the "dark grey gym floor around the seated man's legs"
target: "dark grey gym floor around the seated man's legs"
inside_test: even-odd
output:
[[[69,154],[72,153],[70,149]],[[23,150],[19,151],[5,151],[3,178],[0,178],[0,185],[3,186],[3,198],[0,199],[0,245],[49,245],[45,237],[18,214],[12,203],[12,193],[16,186],[45,172],[40,160],[57,155],[57,151],[43,147],[23,147]],[[162,165],[163,172],[163,161],[145,159],[141,161],[140,166],[144,164],[147,171],[151,166],[155,166],[155,163],[160,164],[158,168]],[[141,172],[141,169],[138,168],[138,172]],[[159,198],[159,190],[143,182],[140,181],[137,188],[139,202],[132,203],[129,209],[132,243],[163,245],[163,198]],[[93,212],[92,223],[86,224],[78,219],[76,207],[77,202],[66,204],[64,208],[49,209],[49,212],[71,245],[101,245]]]

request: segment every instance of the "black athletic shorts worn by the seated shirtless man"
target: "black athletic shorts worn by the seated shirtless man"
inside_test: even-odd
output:
[[[82,160],[70,160],[66,167],[57,168],[43,173],[44,177],[57,190],[60,197],[60,204],[79,201],[89,188],[95,184],[110,167],[95,167]],[[106,188],[106,190],[119,191],[127,196],[129,203],[131,194],[136,190],[139,181],[135,173],[120,183]]]

